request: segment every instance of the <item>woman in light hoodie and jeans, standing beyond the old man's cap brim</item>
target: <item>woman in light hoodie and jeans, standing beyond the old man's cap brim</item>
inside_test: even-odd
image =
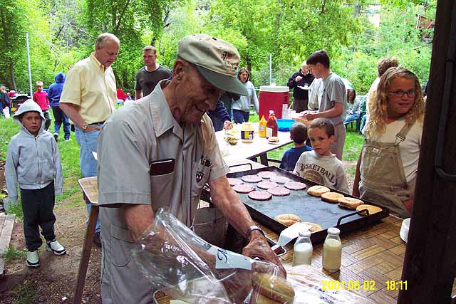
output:
[[[249,92],[249,95],[241,96],[239,100],[234,100],[232,103],[234,123],[242,123],[249,121],[250,105],[254,105],[255,112],[258,114],[258,98],[253,83],[249,81],[250,73],[247,68],[241,68],[237,78],[244,83]]]

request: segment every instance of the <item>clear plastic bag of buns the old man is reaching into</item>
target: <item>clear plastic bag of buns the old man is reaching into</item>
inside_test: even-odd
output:
[[[289,268],[281,278],[274,264],[213,246],[164,209],[132,257],[152,288],[186,303],[369,303],[351,292],[322,292],[330,278],[311,268]]]

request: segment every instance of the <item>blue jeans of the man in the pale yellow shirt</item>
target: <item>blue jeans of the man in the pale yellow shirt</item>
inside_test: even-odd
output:
[[[98,124],[101,127],[103,124]],[[93,126],[93,125],[92,125]],[[97,160],[93,157],[92,152],[97,152],[97,137],[100,130],[92,132],[83,132],[83,130],[75,125],[74,135],[79,145],[79,165],[83,177],[97,176]],[[87,214],[90,214],[90,204],[86,204]],[[95,232],[100,232],[100,216],[98,216]]]

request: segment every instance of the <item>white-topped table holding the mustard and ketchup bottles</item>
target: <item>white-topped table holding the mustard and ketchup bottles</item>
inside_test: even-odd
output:
[[[215,132],[217,142],[219,142],[220,151],[222,152],[223,159],[225,159],[226,162],[232,159],[256,160],[257,157],[259,157],[261,164],[267,166],[267,152],[276,150],[279,147],[283,147],[293,142],[293,140],[290,140],[290,132],[278,132],[277,137],[279,137],[279,142],[270,144],[266,138],[258,136],[258,123],[255,122],[252,123],[252,125],[255,130],[254,140],[253,142],[249,143],[242,142],[242,140],[239,140],[237,142],[237,145],[229,145],[227,141],[224,140],[224,130]],[[234,125],[234,129],[241,130],[241,125]]]

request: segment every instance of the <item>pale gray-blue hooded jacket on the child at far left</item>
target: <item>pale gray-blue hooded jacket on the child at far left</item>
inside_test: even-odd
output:
[[[36,137],[19,120],[19,115],[29,111],[41,115],[41,127]],[[44,115],[40,106],[33,100],[27,100],[13,118],[21,130],[11,138],[6,154],[6,189],[11,202],[17,204],[17,184],[21,189],[42,189],[55,180],[56,195],[61,194],[63,175],[60,154],[56,140],[44,130]]]

